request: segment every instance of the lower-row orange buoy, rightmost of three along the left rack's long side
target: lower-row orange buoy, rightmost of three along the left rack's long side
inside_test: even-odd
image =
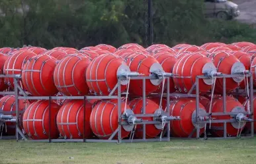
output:
[[[121,103],[121,113],[125,111],[125,102]],[[126,105],[126,109],[130,109],[129,105]],[[91,111],[90,117],[91,130],[95,136],[101,139],[109,138],[114,131],[118,128],[118,101],[117,99],[101,100]],[[134,126],[123,125],[121,128],[122,138],[126,138]],[[114,136],[117,138],[118,134]]]

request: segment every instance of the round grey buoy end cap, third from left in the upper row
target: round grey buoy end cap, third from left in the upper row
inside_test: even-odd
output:
[[[217,68],[215,67],[214,63],[206,63],[204,67],[202,67],[202,74],[207,74],[207,76],[211,76],[217,72]],[[205,84],[212,85],[213,80],[212,78],[203,78],[202,79]]]

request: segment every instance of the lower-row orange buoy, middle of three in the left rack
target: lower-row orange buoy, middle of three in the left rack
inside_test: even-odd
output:
[[[83,100],[71,100],[60,108],[57,115],[57,125],[60,134],[64,138],[79,139],[89,138],[92,136],[90,128],[90,116],[92,105],[88,101],[85,101],[85,107]],[[85,115],[84,115],[85,112]],[[85,132],[83,132],[83,125],[85,124]]]

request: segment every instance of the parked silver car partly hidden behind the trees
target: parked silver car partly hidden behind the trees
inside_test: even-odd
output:
[[[204,0],[204,15],[222,20],[230,20],[239,16],[238,5],[227,0]]]

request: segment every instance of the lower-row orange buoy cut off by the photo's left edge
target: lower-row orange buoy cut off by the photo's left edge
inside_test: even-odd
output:
[[[24,109],[26,109],[28,103],[26,100],[19,100],[19,112],[21,120]],[[16,116],[16,102],[15,102],[15,96],[4,96],[0,99],[0,111],[5,112],[5,115],[12,115],[13,117]],[[15,134],[16,129],[15,123],[7,122],[7,134],[13,135]],[[22,123],[19,124],[19,126],[22,128]]]

